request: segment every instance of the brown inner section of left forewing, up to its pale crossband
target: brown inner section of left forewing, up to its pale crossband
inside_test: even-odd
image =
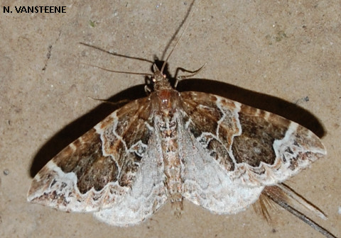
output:
[[[151,116],[148,98],[140,99],[117,110],[114,122],[101,133],[104,154],[110,154],[120,168],[120,186],[131,186],[144,157],[151,135],[146,123],[151,128]]]

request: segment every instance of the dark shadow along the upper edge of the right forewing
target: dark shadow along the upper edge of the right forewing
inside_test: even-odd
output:
[[[260,94],[255,91],[242,89],[238,86],[213,81],[210,79],[185,79],[178,84],[179,91],[200,91],[207,94],[215,94],[243,103],[254,108],[259,108],[270,113],[281,115],[283,118],[308,128],[318,137],[325,135],[325,129],[318,118],[306,111],[296,103],[285,101],[276,96]]]

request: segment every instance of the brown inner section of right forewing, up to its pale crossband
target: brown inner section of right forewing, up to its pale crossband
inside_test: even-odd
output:
[[[217,97],[210,94],[183,92],[180,95],[190,132],[225,169],[233,171],[235,164],[229,147],[234,135],[240,132],[234,116],[235,107],[231,105],[223,111],[217,106]]]

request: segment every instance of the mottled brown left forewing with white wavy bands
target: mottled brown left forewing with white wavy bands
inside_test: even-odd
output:
[[[114,111],[68,145],[33,179],[28,200],[67,211],[112,207],[130,191],[153,125],[148,98]]]

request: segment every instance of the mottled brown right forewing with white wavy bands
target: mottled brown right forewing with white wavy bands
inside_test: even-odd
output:
[[[212,94],[180,95],[187,129],[236,183],[274,185],[326,154],[313,132],[279,115]]]

